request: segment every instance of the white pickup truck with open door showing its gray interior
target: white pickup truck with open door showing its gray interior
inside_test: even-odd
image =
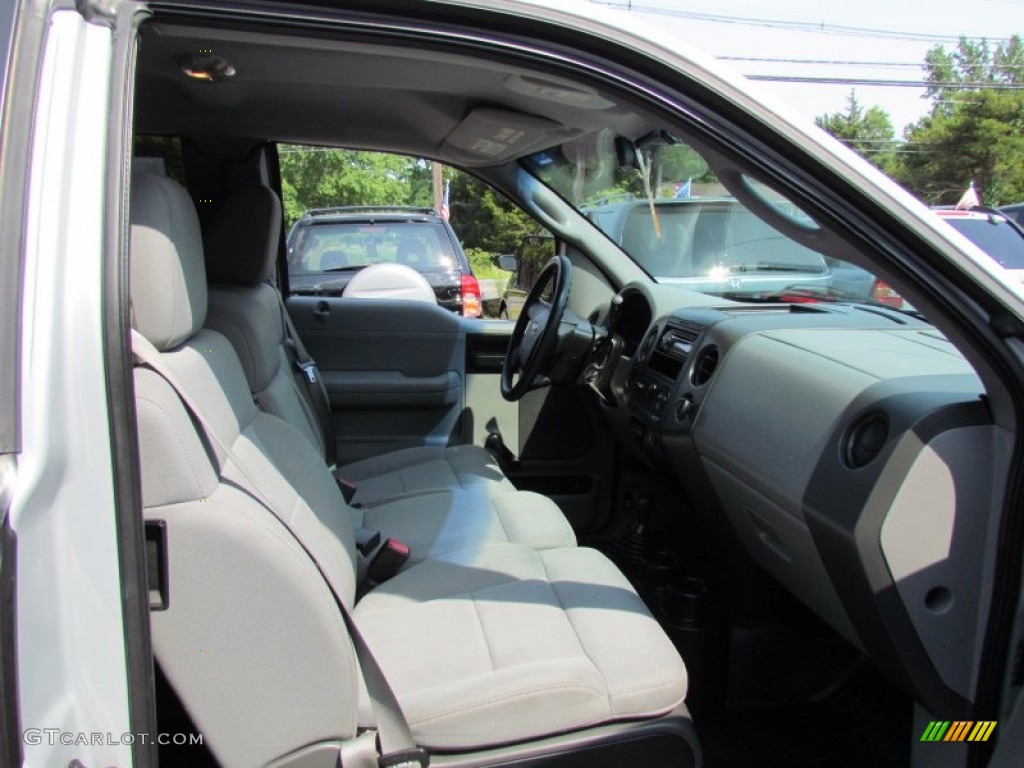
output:
[[[0,764],[1019,764],[1024,298],[867,163],[598,4],[0,31]],[[557,255],[515,324],[289,296],[279,143],[461,168]],[[586,215],[698,180],[914,311]]]

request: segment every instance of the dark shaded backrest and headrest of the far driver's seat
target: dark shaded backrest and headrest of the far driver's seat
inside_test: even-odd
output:
[[[324,457],[319,421],[286,347],[284,308],[273,275],[281,237],[281,201],[265,186],[232,194],[207,226],[206,327],[238,352],[259,408],[295,427]]]

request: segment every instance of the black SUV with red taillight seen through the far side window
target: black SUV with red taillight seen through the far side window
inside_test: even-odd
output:
[[[293,294],[340,296],[355,272],[382,262],[423,274],[445,309],[480,316],[480,285],[452,226],[432,208],[316,208],[288,233]]]

